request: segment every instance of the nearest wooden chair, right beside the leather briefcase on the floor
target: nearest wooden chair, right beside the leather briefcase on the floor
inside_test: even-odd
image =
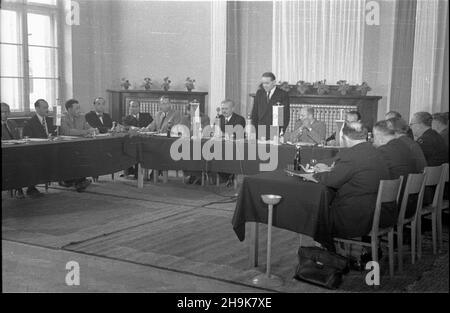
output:
[[[344,244],[357,244],[360,246],[371,247],[372,261],[378,262],[379,237],[387,234],[389,249],[389,275],[391,277],[394,276],[394,225],[380,229],[381,206],[383,203],[388,202],[395,201],[397,204],[399,203],[402,182],[403,176],[400,176],[398,179],[380,181],[375,212],[373,215],[372,230],[368,234],[371,238],[370,243],[362,242],[357,239],[334,238],[334,240]]]

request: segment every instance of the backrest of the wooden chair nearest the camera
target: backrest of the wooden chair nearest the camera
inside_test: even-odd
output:
[[[381,206],[383,203],[394,202],[398,205],[400,200],[403,176],[392,180],[381,180],[378,187],[377,202],[372,222],[372,233],[377,234],[380,225]]]

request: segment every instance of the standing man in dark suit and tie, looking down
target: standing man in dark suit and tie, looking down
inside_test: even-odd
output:
[[[272,107],[274,105],[283,105],[283,132],[289,124],[289,95],[286,91],[276,86],[275,75],[267,72],[262,75],[261,88],[258,89],[253,101],[251,113],[252,124],[255,126],[258,137],[266,136],[270,139],[270,126],[272,125]],[[266,132],[262,134],[258,130],[258,126],[265,126]],[[280,129],[277,129],[280,132]]]

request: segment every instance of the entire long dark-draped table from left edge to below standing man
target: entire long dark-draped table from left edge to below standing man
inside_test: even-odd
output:
[[[290,144],[256,144],[243,140],[193,140],[130,134],[64,138],[30,139],[19,144],[2,141],[2,190],[106,175],[134,164],[139,164],[140,169],[255,175],[287,168],[293,163],[296,152],[295,146]],[[205,145],[208,145],[209,152],[200,153],[199,147],[202,150]],[[174,157],[176,147],[180,147],[179,153],[189,147],[185,159]],[[321,160],[333,157],[337,151],[336,148],[302,147],[302,163],[311,158]],[[271,167],[263,167],[269,163]],[[142,170],[138,173],[138,186],[142,187]]]

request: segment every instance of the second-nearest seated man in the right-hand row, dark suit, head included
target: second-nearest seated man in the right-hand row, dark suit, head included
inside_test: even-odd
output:
[[[374,146],[381,152],[392,179],[403,176],[406,181],[410,173],[419,173],[408,146],[396,138],[395,132],[386,121],[379,121],[373,127]]]

